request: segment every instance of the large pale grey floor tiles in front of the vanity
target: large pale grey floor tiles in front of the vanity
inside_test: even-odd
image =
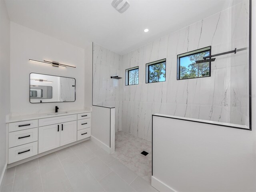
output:
[[[114,156],[87,140],[9,168],[1,191],[157,192]]]

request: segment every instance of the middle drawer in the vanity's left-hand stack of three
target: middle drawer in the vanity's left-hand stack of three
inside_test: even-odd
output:
[[[9,148],[38,140],[38,128],[25,129],[9,133]]]

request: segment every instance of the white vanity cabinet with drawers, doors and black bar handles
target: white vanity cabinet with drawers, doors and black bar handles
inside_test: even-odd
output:
[[[8,122],[8,130],[8,164],[11,164],[90,137],[91,112],[12,120]]]

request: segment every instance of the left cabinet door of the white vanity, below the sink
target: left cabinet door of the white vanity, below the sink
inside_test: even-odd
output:
[[[42,153],[60,146],[60,124],[39,127],[38,153]]]

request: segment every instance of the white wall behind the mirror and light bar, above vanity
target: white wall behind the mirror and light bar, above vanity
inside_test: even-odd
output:
[[[84,108],[84,49],[13,22],[10,26],[10,46],[10,110],[14,116],[54,112],[56,105],[60,110]],[[72,64],[76,68],[56,68],[30,62],[29,59],[53,60]],[[75,78],[76,101],[31,104],[29,102],[29,74],[31,72]]]

